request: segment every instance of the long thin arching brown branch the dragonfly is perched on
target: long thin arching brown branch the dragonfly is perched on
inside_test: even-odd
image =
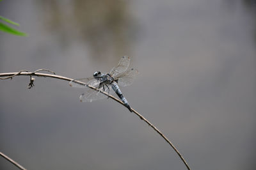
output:
[[[40,69],[41,70],[45,70],[45,69]],[[49,71],[49,70],[47,70]],[[51,72],[51,71],[49,71]],[[53,72],[51,72],[53,73]],[[48,74],[48,73],[38,73],[38,70],[36,72],[13,72],[13,73],[0,73],[0,79],[12,79],[12,77],[18,76],[18,75],[28,75],[28,76],[38,76],[38,77],[52,77],[54,79],[61,79],[64,81],[74,81],[74,79],[70,79],[68,77],[63,77],[60,75],[53,75],[53,74]],[[1,78],[4,77],[4,78]],[[113,100],[115,100],[116,102],[118,102],[119,104],[124,105],[124,103],[119,100],[116,97],[113,97],[112,95],[109,95],[108,93],[106,93],[105,91],[101,91],[98,88],[95,88],[93,86],[90,86],[90,84],[86,84],[84,82],[81,81],[76,81],[79,84],[83,84],[84,86],[87,86],[88,88],[94,89],[96,91],[99,91],[100,93],[108,96],[109,98],[112,98]],[[125,106],[125,105],[124,105]],[[175,146],[172,144],[172,142],[160,131],[158,130],[154,125],[152,125],[152,123],[150,123],[150,121],[148,121],[146,118],[144,118],[143,116],[141,116],[140,113],[138,113],[137,111],[135,111],[134,109],[132,109],[132,112],[134,112],[137,116],[140,117],[141,120],[145,121],[150,127],[152,127],[159,135],[161,135],[161,137],[163,137],[163,139],[170,144],[170,146],[172,146],[173,150],[175,150],[175,152],[179,155],[180,159],[182,160],[182,162],[184,162],[185,166],[188,168],[188,170],[190,170],[190,167],[188,166],[186,160],[182,157],[182,155],[179,153],[179,151],[177,150],[177,148],[175,148]]]

